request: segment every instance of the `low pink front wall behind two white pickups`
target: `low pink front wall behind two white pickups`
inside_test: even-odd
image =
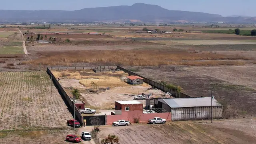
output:
[[[133,113],[122,113],[122,115],[108,115],[106,116],[106,124],[111,125],[112,122],[117,120],[129,120],[131,123],[134,123],[134,118],[140,118],[140,122],[148,122],[149,119],[154,117],[164,118],[166,120],[171,120],[171,113],[152,113],[152,114],[143,114],[140,112],[134,111]]]

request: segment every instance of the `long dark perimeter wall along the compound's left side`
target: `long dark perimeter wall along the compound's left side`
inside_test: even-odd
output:
[[[50,71],[49,68],[47,68],[47,73],[52,76],[52,82],[54,83],[54,85],[56,86],[58,92],[60,92],[61,96],[66,100],[68,107],[74,111],[74,102],[70,99],[70,97],[68,96],[68,94],[65,92],[65,90],[62,88],[62,86],[60,85],[60,83],[58,82],[58,80],[55,78],[55,76],[52,74],[52,72]],[[76,108],[75,105],[75,115],[76,115],[76,120],[78,120],[80,122],[80,124],[84,123],[84,118],[83,116],[80,114],[78,108]],[[73,114],[72,114],[73,116]]]

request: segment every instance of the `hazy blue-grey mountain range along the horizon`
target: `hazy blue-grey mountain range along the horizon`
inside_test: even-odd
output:
[[[253,17],[223,17],[218,14],[167,10],[157,5],[136,3],[132,6],[84,8],[81,10],[0,10],[0,21],[83,21],[83,22],[256,22]]]

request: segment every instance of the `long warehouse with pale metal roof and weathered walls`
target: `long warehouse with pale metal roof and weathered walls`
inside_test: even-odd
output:
[[[211,97],[168,98],[154,101],[155,108],[163,108],[172,113],[172,120],[192,120],[211,118]],[[222,104],[213,98],[213,118],[222,117]]]

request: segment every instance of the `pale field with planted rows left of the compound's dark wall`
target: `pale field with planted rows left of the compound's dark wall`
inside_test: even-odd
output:
[[[3,129],[65,126],[72,115],[42,72],[0,73],[0,123]]]

